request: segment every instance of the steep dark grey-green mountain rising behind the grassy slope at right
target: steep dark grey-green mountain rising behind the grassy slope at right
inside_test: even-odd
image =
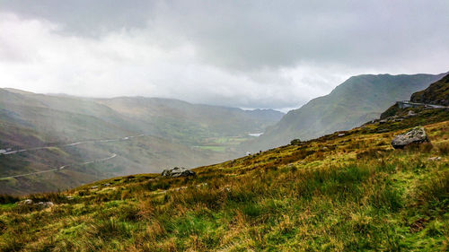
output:
[[[289,111],[257,140],[243,143],[242,149],[264,150],[295,138],[307,140],[360,126],[378,118],[395,101],[408,100],[413,92],[427,88],[444,75],[364,74],[350,77],[330,94]]]

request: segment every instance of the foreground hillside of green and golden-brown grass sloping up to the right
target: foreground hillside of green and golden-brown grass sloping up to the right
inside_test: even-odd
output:
[[[425,125],[431,144],[394,150]],[[194,169],[3,196],[4,251],[446,251],[449,113],[428,109]],[[439,158],[436,158],[439,157]],[[51,201],[48,208],[36,204]]]

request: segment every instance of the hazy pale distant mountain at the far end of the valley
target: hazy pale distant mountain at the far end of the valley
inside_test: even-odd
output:
[[[95,100],[132,120],[145,134],[192,145],[208,137],[242,136],[276,124],[283,113],[191,104],[182,100],[120,97]]]

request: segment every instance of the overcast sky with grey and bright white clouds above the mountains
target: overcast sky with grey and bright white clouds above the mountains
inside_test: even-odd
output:
[[[449,1],[0,0],[0,87],[298,108],[449,70]]]

